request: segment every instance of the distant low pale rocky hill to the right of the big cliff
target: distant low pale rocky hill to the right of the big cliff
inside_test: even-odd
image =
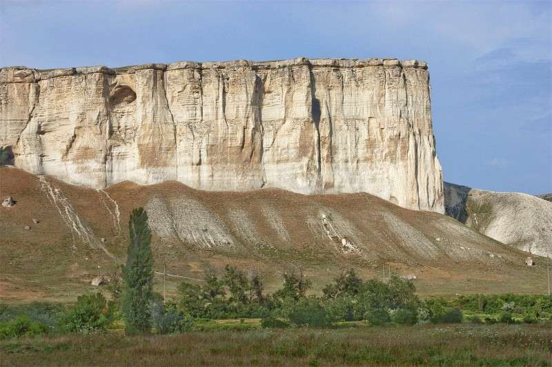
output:
[[[446,213],[504,244],[552,255],[552,202],[526,193],[471,189],[445,182]]]

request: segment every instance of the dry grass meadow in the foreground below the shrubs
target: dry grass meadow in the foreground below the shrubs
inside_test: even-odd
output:
[[[1,342],[15,366],[552,366],[549,325],[120,333]]]

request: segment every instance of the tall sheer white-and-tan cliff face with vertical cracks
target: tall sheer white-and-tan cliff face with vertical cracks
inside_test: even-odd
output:
[[[367,192],[444,212],[427,66],[394,59],[0,70],[0,147],[76,185]]]

